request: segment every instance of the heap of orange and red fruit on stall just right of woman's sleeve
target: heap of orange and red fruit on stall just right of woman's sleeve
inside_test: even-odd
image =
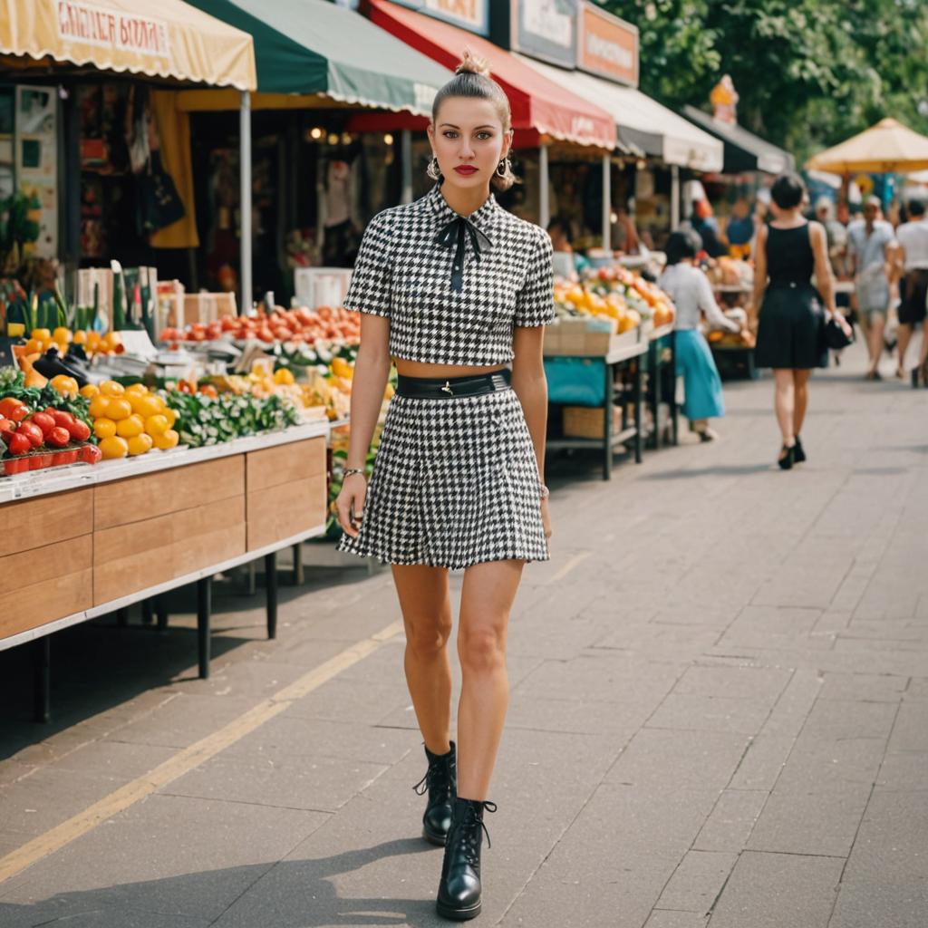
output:
[[[579,283],[558,280],[554,301],[558,316],[612,319],[620,335],[645,319],[660,328],[675,316],[674,305],[663,290],[624,267],[600,267]]]

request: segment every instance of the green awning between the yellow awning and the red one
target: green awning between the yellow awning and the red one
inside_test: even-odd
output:
[[[327,0],[187,0],[254,40],[258,93],[432,114],[451,72]]]

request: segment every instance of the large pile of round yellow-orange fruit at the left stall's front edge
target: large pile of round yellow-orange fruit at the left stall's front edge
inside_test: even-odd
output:
[[[123,387],[115,380],[84,387],[90,399],[94,435],[104,459],[136,458],[152,448],[169,451],[180,444],[177,414],[144,384]]]

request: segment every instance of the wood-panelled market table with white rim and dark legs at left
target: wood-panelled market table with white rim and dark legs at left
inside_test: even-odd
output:
[[[208,677],[213,574],[260,558],[275,638],[277,551],[325,531],[328,436],[320,421],[0,480],[0,576],[16,577],[30,604],[0,612],[0,651],[32,642],[36,719],[50,716],[50,635],[110,612],[124,621],[135,602],[150,613],[153,599],[191,583]]]

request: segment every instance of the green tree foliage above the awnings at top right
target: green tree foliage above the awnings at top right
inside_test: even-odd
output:
[[[641,89],[705,108],[723,74],[738,121],[800,160],[883,116],[928,134],[925,0],[598,0],[638,26]]]

